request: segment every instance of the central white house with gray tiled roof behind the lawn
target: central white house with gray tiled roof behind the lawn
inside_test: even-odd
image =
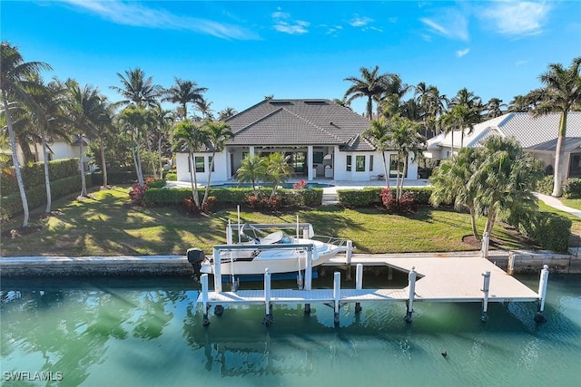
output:
[[[363,181],[384,174],[381,154],[361,136],[369,120],[330,100],[265,100],[226,120],[234,136],[216,154],[213,181],[235,179],[246,155],[284,152],[301,179]],[[195,154],[196,179],[205,183],[212,153]],[[396,152],[386,151],[396,176]],[[187,153],[176,155],[177,179],[190,181]],[[409,160],[408,179],[418,179]]]

